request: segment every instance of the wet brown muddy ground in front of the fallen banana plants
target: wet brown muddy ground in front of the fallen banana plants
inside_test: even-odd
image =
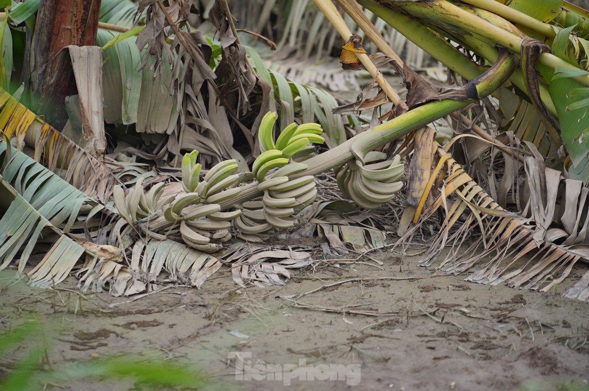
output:
[[[210,390],[588,389],[589,303],[561,297],[585,266],[539,293],[466,283],[393,253],[376,259],[383,265],[320,262],[268,288],[238,289],[223,268],[200,290],[127,303],[81,296],[73,279],[34,289],[9,269],[0,332],[41,321],[44,370],[134,353],[196,366]],[[35,382],[48,390],[143,389],[112,376],[44,383],[44,370]]]

